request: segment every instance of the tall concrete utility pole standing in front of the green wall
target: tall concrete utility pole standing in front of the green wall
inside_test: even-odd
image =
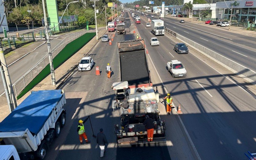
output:
[[[50,44],[50,37],[49,37],[49,33],[48,33],[48,22],[47,22],[47,18],[46,18],[44,0],[42,0],[42,3],[43,3],[43,10],[44,10],[45,38],[46,38],[47,49],[48,49],[48,56],[49,56],[49,62],[50,62],[50,70],[51,70],[51,76],[52,76],[52,85],[56,85],[55,73],[54,73],[53,62],[52,62],[52,50],[51,50],[51,44]]]

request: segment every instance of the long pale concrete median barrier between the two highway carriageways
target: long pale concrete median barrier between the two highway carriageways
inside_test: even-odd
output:
[[[244,78],[245,80],[249,81],[250,83],[256,85],[256,72],[252,71],[249,68],[244,67],[243,65],[236,63],[233,60],[230,60],[217,52],[214,52],[201,44],[198,44],[184,36],[177,34],[177,39],[180,41],[188,44],[190,47],[194,48],[198,52],[204,54],[205,56],[209,57],[210,59],[214,60],[215,62],[219,63],[223,67],[227,68],[231,72],[235,73],[236,75]]]

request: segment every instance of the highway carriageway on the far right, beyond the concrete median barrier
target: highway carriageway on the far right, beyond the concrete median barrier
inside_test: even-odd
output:
[[[159,19],[159,16],[155,15],[151,19]],[[188,21],[179,23],[181,19],[164,17],[165,27],[256,71],[256,37],[233,33],[223,28],[194,24]]]

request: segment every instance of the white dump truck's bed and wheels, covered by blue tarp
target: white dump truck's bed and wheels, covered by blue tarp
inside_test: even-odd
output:
[[[44,159],[66,123],[65,103],[64,90],[31,91],[0,123],[1,145],[13,145],[20,159]]]

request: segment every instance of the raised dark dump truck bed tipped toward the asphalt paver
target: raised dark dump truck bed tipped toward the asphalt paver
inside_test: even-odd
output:
[[[149,73],[144,40],[120,42],[118,47],[121,81],[128,81],[129,85],[147,84]]]

